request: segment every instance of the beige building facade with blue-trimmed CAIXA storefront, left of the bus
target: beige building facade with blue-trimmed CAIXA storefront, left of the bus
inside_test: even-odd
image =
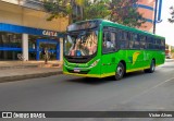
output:
[[[66,17],[47,21],[49,16],[39,0],[0,0],[0,61],[44,59],[42,51],[49,49],[51,60],[62,60]]]

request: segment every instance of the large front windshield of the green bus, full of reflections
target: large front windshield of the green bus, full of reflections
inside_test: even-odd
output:
[[[69,32],[64,39],[64,55],[70,57],[85,57],[97,52],[98,32]]]

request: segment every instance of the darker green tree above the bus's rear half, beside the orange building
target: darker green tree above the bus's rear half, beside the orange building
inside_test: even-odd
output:
[[[146,20],[137,11],[136,3],[137,0],[112,0],[110,20],[130,27],[140,27]]]

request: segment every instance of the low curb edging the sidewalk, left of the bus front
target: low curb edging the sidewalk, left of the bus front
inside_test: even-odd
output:
[[[47,76],[58,75],[58,74],[63,74],[63,72],[57,71],[57,72],[46,72],[46,73],[36,73],[36,74],[27,74],[27,75],[4,76],[4,77],[0,77],[0,83],[25,81],[27,78],[47,77]]]

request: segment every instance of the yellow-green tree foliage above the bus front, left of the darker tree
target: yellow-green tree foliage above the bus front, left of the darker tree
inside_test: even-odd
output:
[[[44,8],[51,15],[47,19],[69,16],[70,23],[91,19],[104,19],[110,14],[105,5],[109,0],[45,0]]]

